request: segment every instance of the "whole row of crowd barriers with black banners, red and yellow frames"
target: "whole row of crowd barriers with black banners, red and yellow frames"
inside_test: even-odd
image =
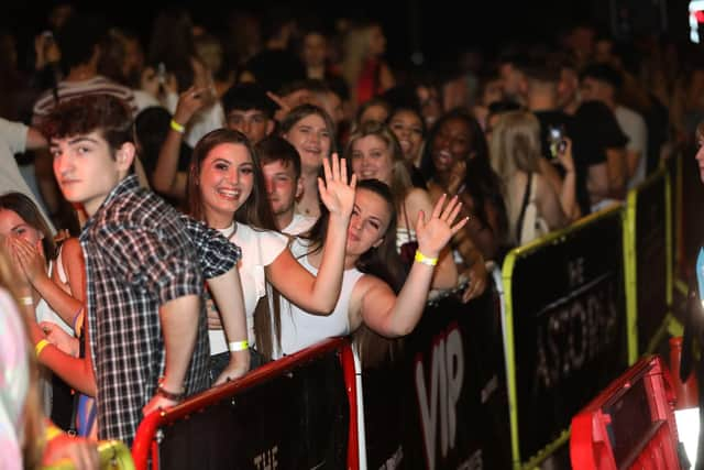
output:
[[[683,214],[673,168],[629,193],[625,206],[512,251],[502,274],[503,331],[494,292],[469,305],[449,297],[427,307],[393,364],[364,369],[362,411],[349,345],[327,342],[148,416],[133,447],[138,468],[151,455],[155,468],[211,459],[354,469],[358,416],[369,468],[402,460],[427,469],[537,466],[566,442],[572,416],[664,332],[680,252],[672,227]],[[331,383],[304,379],[307,368]],[[304,391],[326,386],[332,392]],[[213,424],[217,441],[202,442]],[[290,445],[323,440],[323,450]]]

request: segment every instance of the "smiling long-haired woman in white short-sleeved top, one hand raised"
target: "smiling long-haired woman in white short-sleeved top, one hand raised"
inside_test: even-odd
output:
[[[261,352],[265,358],[271,357],[271,351],[266,350],[271,341],[263,340],[262,335],[268,335],[271,328],[260,327],[258,323],[266,324],[271,318],[268,310],[276,310],[276,302],[271,305],[267,302],[267,283],[292,303],[318,315],[328,315],[340,293],[356,177],[353,175],[348,184],[345,162],[340,162],[337,155],[331,162],[322,159],[321,164],[324,181],[318,178],[317,189],[330,217],[320,275],[314,277],[288,250],[288,239],[276,232],[261,164],[246,136],[238,131],[219,129],[205,135],[194,149],[188,181],[190,215],[205,220],[242,248],[238,266],[248,340],[256,348],[253,352]],[[217,369],[217,356],[227,352],[229,346],[219,330],[216,311],[209,311],[209,327],[211,354],[216,356],[211,358],[212,367]],[[257,359],[261,357],[253,353],[253,367],[258,364]]]

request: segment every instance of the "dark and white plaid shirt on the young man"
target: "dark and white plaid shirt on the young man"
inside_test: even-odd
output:
[[[88,328],[98,395],[98,437],[132,444],[142,408],[165,368],[160,306],[204,294],[204,278],[226,273],[241,251],[216,230],[179,215],[163,199],[123,179],[80,234],[86,259]],[[198,331],[184,387],[209,386],[208,329]]]

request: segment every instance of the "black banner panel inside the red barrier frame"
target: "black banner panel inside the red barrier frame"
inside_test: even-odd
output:
[[[163,469],[342,469],[349,402],[336,351],[161,429]]]

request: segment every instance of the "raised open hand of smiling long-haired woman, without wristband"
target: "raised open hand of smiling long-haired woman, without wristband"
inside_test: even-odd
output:
[[[356,187],[356,175],[352,175],[348,183],[348,165],[344,159],[340,160],[337,153],[322,161],[324,182],[318,178],[318,193],[320,200],[330,211],[331,217],[340,217],[348,220],[354,207],[354,188]]]

